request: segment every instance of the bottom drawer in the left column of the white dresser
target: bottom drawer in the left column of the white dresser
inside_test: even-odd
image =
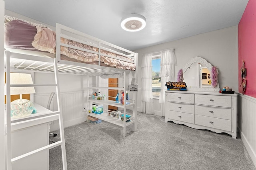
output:
[[[182,113],[178,111],[167,111],[168,119],[183,121],[194,124],[194,114]]]

